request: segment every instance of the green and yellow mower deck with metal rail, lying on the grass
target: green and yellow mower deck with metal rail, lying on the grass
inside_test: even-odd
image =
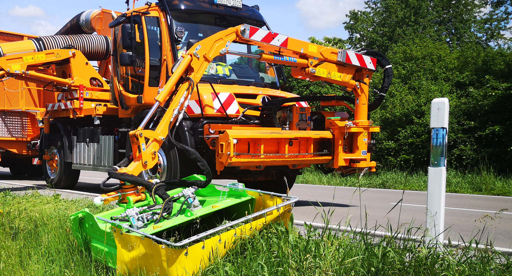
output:
[[[177,194],[180,190],[171,190],[168,194]],[[193,274],[209,265],[212,257],[224,256],[238,239],[251,236],[268,223],[283,221],[287,225],[293,203],[297,200],[286,195],[246,189],[239,183],[210,184],[196,194],[202,203],[201,208],[184,209],[176,219],[148,223],[141,229],[134,229],[128,223],[116,222],[110,217],[130,207],[151,205],[151,199],[133,206],[120,204],[120,207],[96,216],[87,209],[82,210],[71,216],[73,233],[83,246],[91,248],[95,259],[118,272]],[[217,225],[211,226],[212,223]],[[201,229],[204,231],[197,234],[193,232],[184,239],[165,239],[176,232],[183,236],[193,231],[195,226],[205,225],[210,225],[210,228]]]

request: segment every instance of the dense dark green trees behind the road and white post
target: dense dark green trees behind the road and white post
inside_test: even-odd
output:
[[[347,39],[314,43],[386,54],[393,84],[371,119],[381,126],[375,159],[403,168],[428,166],[430,102],[450,100],[449,165],[512,165],[512,53],[509,0],[370,0],[347,15]],[[380,85],[379,72],[371,87]],[[331,88],[293,80],[297,94]]]

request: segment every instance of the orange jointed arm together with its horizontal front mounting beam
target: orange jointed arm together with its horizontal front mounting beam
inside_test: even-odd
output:
[[[266,165],[288,165],[290,168],[301,168],[314,163],[325,164],[326,167],[343,173],[366,167],[371,171],[375,170],[376,163],[370,160],[369,144],[371,133],[378,132],[379,128],[372,126],[372,122],[368,120],[371,105],[368,84],[377,62],[386,63],[387,59],[382,62],[361,53],[324,47],[257,27],[240,25],[209,36],[182,54],[173,67],[172,76],[159,90],[153,108],[140,126],[130,132],[134,159],[119,172],[138,175],[157,162],[156,153],[169,130],[182,120],[195,83],[200,81],[215,57],[228,53],[237,54],[229,51],[233,42],[258,46],[263,52],[250,57],[291,66],[293,77],[310,81],[321,80],[345,87],[353,93],[353,99],[328,96],[306,97],[305,100],[321,101],[322,105],[345,105],[353,111],[354,120],[349,121],[348,118],[329,116],[334,114],[326,113],[323,130],[293,131],[293,128],[288,128],[284,131],[284,128],[276,129],[275,125],[258,129],[258,134],[247,132],[250,129],[247,126],[205,125],[205,138],[209,136],[218,140],[218,171],[225,166],[261,169]],[[246,53],[239,54],[248,56]],[[386,85],[383,87],[384,89],[380,89],[382,94],[387,90]],[[281,103],[286,103],[286,100],[268,102],[276,106],[271,110],[279,109]],[[164,105],[166,111],[156,129],[144,129],[157,109]],[[275,117],[272,112],[264,112],[268,106],[265,104],[262,108],[260,118],[263,120],[265,116]]]

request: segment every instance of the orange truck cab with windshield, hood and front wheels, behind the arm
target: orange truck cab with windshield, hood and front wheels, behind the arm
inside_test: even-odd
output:
[[[224,1],[161,1],[124,13],[110,26],[113,28],[112,99],[120,117],[142,118],[155,103],[159,89],[173,73],[180,56],[198,41],[230,27],[248,24],[268,29],[258,6],[242,1],[235,5]],[[178,126],[177,139],[195,148],[207,160],[215,178],[238,179],[246,183],[274,180],[293,184],[298,169],[269,166],[265,169],[216,169],[215,139],[203,138],[207,122],[240,121],[257,124],[260,108],[272,99],[296,97],[280,90],[286,83],[283,67],[254,58],[263,52],[254,45],[232,43],[230,52],[211,59],[196,90],[188,99],[186,119]],[[236,54],[230,54],[230,53]],[[280,83],[281,80],[281,83]],[[307,106],[307,103],[301,103]],[[249,108],[244,112],[246,108]],[[146,128],[154,128],[148,124]],[[133,129],[133,128],[132,128]],[[171,132],[172,133],[172,132]],[[127,148],[127,154],[130,150]],[[189,163],[168,143],[159,151],[159,163],[143,172],[148,178],[177,178],[193,174]],[[254,167],[255,168],[255,167]],[[263,182],[262,182],[263,183]],[[255,184],[257,185],[257,184]]]

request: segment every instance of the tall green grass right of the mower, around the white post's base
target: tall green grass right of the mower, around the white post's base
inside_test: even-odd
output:
[[[242,241],[201,275],[510,275],[492,248],[451,248],[393,237],[273,224]]]

